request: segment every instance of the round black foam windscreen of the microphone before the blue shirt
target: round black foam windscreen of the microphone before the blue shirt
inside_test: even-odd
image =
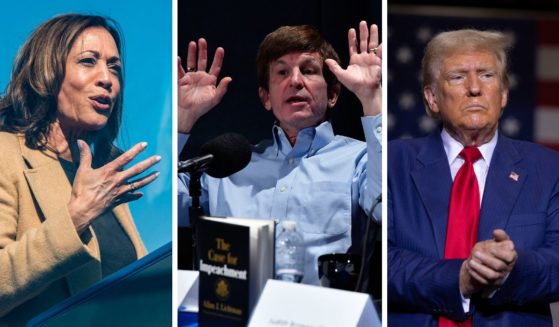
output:
[[[244,136],[226,133],[202,145],[200,155],[205,154],[214,156],[206,173],[215,178],[223,178],[245,168],[250,162],[252,151]]]

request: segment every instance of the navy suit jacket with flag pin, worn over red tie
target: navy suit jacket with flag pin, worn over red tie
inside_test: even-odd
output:
[[[557,152],[499,135],[478,240],[504,229],[518,260],[491,299],[472,298],[474,326],[551,326],[549,302],[559,300],[558,184]],[[439,315],[467,317],[458,285],[463,260],[443,259],[451,187],[440,132],[389,143],[389,326],[437,326]]]

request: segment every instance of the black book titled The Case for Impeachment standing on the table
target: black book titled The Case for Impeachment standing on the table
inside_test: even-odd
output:
[[[273,220],[201,217],[199,323],[245,326],[266,281],[274,277]]]

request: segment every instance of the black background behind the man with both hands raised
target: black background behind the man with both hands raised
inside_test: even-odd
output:
[[[381,26],[381,16],[380,1],[370,0],[352,1],[351,5],[321,0],[179,1],[179,55],[186,58],[188,42],[204,37],[209,58],[217,47],[225,49],[221,76],[233,78],[217,108],[196,123],[186,147],[189,153],[182,155],[195,155],[202,143],[224,132],[242,133],[252,143],[269,138],[274,118],[258,98],[255,64],[258,45],[268,33],[282,25],[317,26],[341,62],[347,63],[347,30],[360,20]],[[342,88],[332,112],[334,132],[364,140],[362,114],[357,98]]]

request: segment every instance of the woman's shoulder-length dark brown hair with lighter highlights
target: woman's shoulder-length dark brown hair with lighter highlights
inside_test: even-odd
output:
[[[14,61],[10,83],[0,99],[1,130],[24,134],[26,145],[32,149],[47,147],[47,136],[58,111],[57,99],[68,54],[78,36],[90,27],[106,29],[123,60],[120,28],[111,18],[66,14],[44,22],[33,31]],[[107,124],[91,133],[97,165],[119,152],[113,142],[122,118],[124,72],[119,80],[121,91]]]

